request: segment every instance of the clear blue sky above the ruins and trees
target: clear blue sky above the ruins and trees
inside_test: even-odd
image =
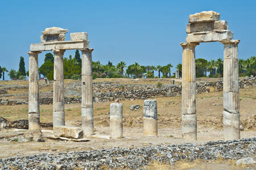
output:
[[[239,57],[256,55],[256,1],[1,1],[0,66],[18,70],[31,43],[39,43],[47,27],[88,32],[93,61],[127,65],[174,65],[181,63],[189,14],[213,10],[226,20],[234,38],[240,39]],[[39,54],[39,66],[44,54]],[[74,56],[67,50],[64,57]],[[201,43],[196,58],[223,57],[223,45]]]

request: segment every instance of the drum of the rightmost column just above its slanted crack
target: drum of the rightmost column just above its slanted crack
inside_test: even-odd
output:
[[[223,92],[223,109],[225,109],[230,113],[238,113],[239,111],[238,92]]]

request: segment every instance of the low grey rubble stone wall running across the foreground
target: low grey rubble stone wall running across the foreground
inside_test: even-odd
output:
[[[179,160],[192,162],[218,158],[238,160],[254,155],[256,137],[238,141],[210,141],[202,145],[158,145],[138,148],[110,148],[92,151],[73,151],[58,154],[37,154],[0,159],[0,169],[100,169],[116,167],[146,169],[151,161],[174,165]],[[248,162],[250,162],[249,159]]]

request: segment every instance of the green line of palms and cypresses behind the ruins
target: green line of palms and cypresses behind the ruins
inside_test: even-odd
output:
[[[216,60],[210,59],[207,61],[203,58],[196,59],[196,77],[222,77],[223,76],[223,60],[218,58]],[[80,57],[79,50],[76,50],[75,57],[64,58],[64,78],[65,79],[80,79],[81,78],[81,65],[82,59]],[[53,80],[53,67],[54,57],[52,53],[46,53],[44,63],[39,67],[39,78],[41,75],[44,78]],[[92,76],[95,78],[174,78],[175,73],[171,74],[171,68],[173,66],[168,63],[165,66],[143,66],[135,62],[132,65],[127,65],[121,61],[117,65],[113,65],[112,62],[108,62],[106,65],[102,65],[100,61],[92,61]],[[252,56],[247,59],[239,59],[238,61],[239,75],[256,75],[256,57]],[[179,75],[182,75],[182,64],[179,63],[176,66],[179,71]],[[155,71],[156,75],[155,76]],[[14,69],[8,71],[6,67],[0,66],[0,78],[5,80],[5,73],[9,72],[8,75],[11,79],[26,79],[28,71],[25,70],[24,58],[20,57],[19,70]],[[162,76],[161,76],[162,73]],[[207,76],[207,73],[209,75]]]

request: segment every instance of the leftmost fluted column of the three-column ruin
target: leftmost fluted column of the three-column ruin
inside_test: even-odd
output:
[[[40,130],[39,111],[39,84],[38,84],[38,54],[41,52],[28,52],[29,63],[29,89],[28,89],[28,129]]]

